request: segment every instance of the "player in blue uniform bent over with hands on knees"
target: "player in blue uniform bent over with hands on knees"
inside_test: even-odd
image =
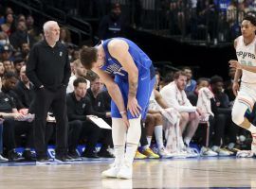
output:
[[[141,134],[140,119],[146,116],[155,84],[152,60],[136,43],[124,38],[112,38],[97,47],[83,46],[80,59],[86,69],[101,77],[112,97],[112,137],[116,158],[114,165],[102,172],[102,177],[131,179]]]

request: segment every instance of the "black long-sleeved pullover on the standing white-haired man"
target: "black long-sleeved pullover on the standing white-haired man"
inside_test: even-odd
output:
[[[26,75],[36,88],[44,85],[56,91],[62,85],[67,86],[70,74],[68,52],[63,43],[57,42],[54,47],[46,40],[34,44],[29,52]]]

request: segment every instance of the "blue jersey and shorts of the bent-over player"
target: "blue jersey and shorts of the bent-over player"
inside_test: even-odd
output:
[[[116,39],[116,38],[115,38]],[[131,54],[138,70],[137,79],[137,103],[141,107],[141,118],[146,118],[147,107],[149,103],[150,94],[153,91],[155,84],[155,69],[152,60],[137,46],[136,43],[124,38],[118,38],[129,44],[129,53]],[[107,44],[113,39],[106,40],[102,43],[105,53],[105,63],[101,70],[110,75],[115,76],[115,82],[119,85],[120,93],[122,94],[125,107],[127,106],[129,94],[128,73],[124,70],[118,60],[113,58],[108,51]],[[128,119],[135,118],[131,112],[127,112]],[[119,109],[115,102],[111,101],[111,116],[121,118]],[[137,116],[136,116],[137,117]]]

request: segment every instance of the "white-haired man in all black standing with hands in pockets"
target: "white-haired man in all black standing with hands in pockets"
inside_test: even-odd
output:
[[[44,25],[45,40],[36,43],[27,60],[27,77],[34,84],[35,127],[34,139],[38,162],[46,162],[46,115],[49,108],[55,115],[56,148],[55,159],[69,161],[67,154],[67,117],[65,90],[70,77],[68,52],[58,42],[60,27],[54,21]]]

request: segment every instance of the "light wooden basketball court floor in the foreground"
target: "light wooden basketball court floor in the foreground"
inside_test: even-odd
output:
[[[256,188],[256,159],[136,160],[132,180],[102,179],[113,159],[0,163],[0,189]]]

